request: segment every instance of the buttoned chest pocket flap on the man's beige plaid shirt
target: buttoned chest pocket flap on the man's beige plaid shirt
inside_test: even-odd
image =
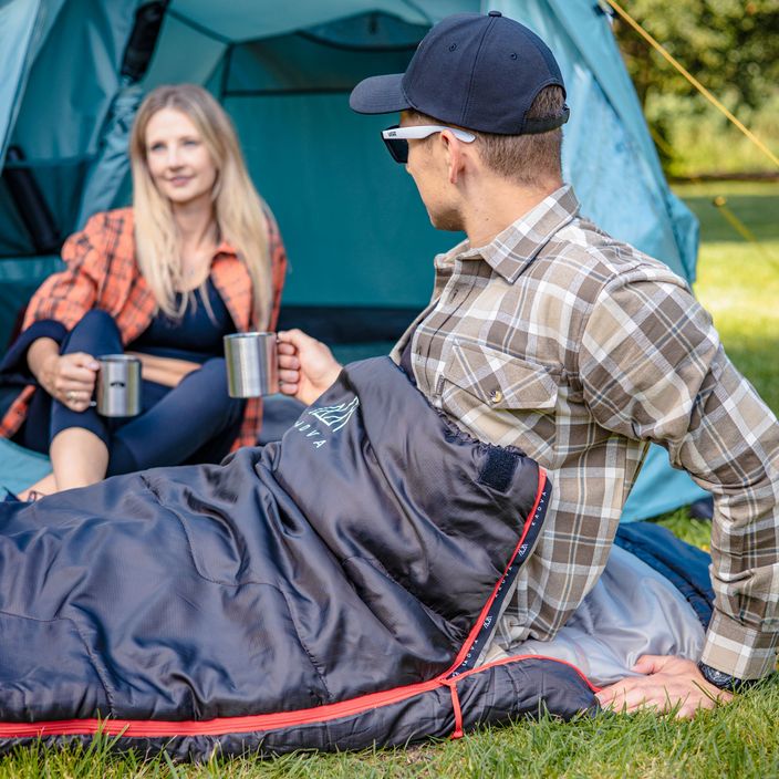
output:
[[[491,408],[554,408],[558,383],[551,371],[489,346],[456,343],[444,376]]]

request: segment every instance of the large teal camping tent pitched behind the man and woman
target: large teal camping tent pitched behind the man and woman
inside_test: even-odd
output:
[[[433,255],[456,237],[430,227],[382,149],[391,120],[353,114],[349,93],[403,71],[442,18],[491,9],[558,55],[571,105],[563,166],[584,212],[692,280],[697,222],[667,187],[596,0],[0,0],[0,349],[58,267],[56,237],[128,201],[124,145],[138,100],[194,81],[232,116],[279,219],[291,259],[284,322],[340,344],[344,359],[385,351],[427,302]],[[653,447],[624,518],[703,495]]]

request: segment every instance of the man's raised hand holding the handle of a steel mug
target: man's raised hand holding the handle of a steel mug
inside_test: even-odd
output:
[[[302,330],[278,333],[279,390],[307,406],[313,403],[341,373],[341,364],[321,342]]]

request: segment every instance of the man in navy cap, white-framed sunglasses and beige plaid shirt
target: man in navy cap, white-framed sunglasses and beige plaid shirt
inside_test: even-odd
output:
[[[390,152],[433,225],[467,235],[436,258],[433,302],[392,356],[461,428],[550,474],[552,521],[499,650],[553,638],[594,586],[650,442],[714,494],[700,662],[644,656],[599,694],[692,716],[775,667],[779,425],[685,282],[579,216],[561,179],[564,97],[546,44],[496,11],[444,20],[405,74],[354,89],[355,111],[401,112]],[[312,402],[339,365],[299,331],[280,339],[282,392]]]

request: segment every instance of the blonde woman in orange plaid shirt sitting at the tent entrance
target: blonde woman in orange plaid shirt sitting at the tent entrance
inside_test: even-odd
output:
[[[3,361],[28,384],[0,435],[51,457],[37,492],[216,460],[259,430],[259,399],[227,395],[221,340],[276,325],[285,255],[235,129],[201,87],[160,86],[141,105],[129,154],[133,207],[71,236],[66,269],[35,292]],[[90,405],[95,356],[123,349],[142,361],[143,409],[107,420]]]

